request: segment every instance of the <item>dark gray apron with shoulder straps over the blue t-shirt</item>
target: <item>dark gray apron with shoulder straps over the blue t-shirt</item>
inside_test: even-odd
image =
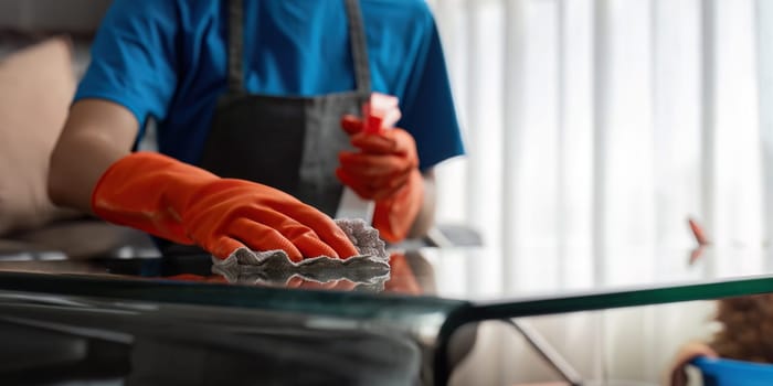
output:
[[[346,9],[357,89],[284,97],[244,89],[244,12],[242,0],[230,0],[229,89],[218,101],[200,167],[276,187],[329,216],[336,214],[343,190],[335,174],[338,152],[351,147],[340,119],[360,115],[371,92],[358,0],[346,0]]]

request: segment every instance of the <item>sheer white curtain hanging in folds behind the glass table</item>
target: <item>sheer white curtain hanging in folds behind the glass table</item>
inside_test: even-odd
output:
[[[493,251],[454,267],[463,277],[449,287],[646,281],[685,262],[675,253],[695,245],[688,217],[716,248],[752,257],[733,264],[773,264],[763,254],[773,236],[773,1],[427,1],[468,150],[440,167],[438,221],[472,225]],[[606,318],[613,343],[591,355],[593,337],[578,328],[587,320],[546,329],[583,374],[657,380],[673,342],[701,322],[696,307]],[[648,322],[673,330],[661,336],[670,341],[647,344]],[[519,355],[491,335],[481,342]],[[618,355],[631,347],[639,353]]]

